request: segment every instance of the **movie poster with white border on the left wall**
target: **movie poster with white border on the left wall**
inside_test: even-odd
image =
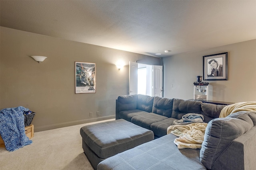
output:
[[[75,93],[96,92],[96,64],[75,62],[76,90]]]

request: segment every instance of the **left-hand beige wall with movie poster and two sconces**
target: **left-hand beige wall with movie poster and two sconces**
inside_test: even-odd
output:
[[[0,29],[0,107],[35,111],[35,131],[114,118],[116,98],[128,94],[129,61],[160,64],[156,57]],[[48,58],[38,64],[30,55]],[[118,70],[120,59],[126,66]],[[96,93],[75,94],[75,61],[96,63]]]

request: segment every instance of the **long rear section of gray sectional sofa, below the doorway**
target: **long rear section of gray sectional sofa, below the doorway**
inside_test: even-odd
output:
[[[116,119],[125,119],[154,132],[156,138],[166,135],[174,120],[187,113],[204,115],[204,122],[219,117],[224,105],[201,101],[151,97],[142,94],[119,96],[116,100]]]

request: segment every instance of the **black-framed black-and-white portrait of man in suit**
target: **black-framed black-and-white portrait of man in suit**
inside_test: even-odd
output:
[[[228,52],[203,56],[204,80],[228,80]]]

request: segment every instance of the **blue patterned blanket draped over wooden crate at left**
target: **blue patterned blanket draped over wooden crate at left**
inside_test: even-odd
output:
[[[0,111],[0,135],[7,150],[14,151],[29,145],[32,141],[26,136],[24,128],[25,107],[6,108]]]

